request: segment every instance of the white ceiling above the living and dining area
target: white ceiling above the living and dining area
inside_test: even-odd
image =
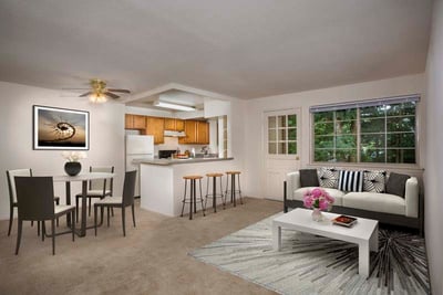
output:
[[[239,98],[422,73],[431,0],[1,0],[0,81]]]

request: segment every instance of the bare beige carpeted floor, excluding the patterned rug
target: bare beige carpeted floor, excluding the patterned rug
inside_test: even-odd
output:
[[[96,238],[93,230],[75,242],[70,235],[58,236],[55,256],[51,240],[41,242],[29,222],[16,256],[17,220],[11,236],[8,221],[0,221],[0,294],[275,294],[187,253],[281,208],[281,202],[246,198],[243,206],[208,210],[206,217],[197,212],[189,221],[137,207],[135,229],[126,213],[126,238],[116,210],[111,228],[100,228]]]

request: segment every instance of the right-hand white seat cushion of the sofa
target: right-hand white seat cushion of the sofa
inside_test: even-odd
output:
[[[404,199],[390,193],[349,192],[343,196],[342,206],[391,214],[405,214]]]

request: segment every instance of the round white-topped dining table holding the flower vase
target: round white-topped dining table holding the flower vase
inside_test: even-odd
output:
[[[94,179],[110,179],[114,178],[115,173],[109,173],[109,172],[84,172],[80,173],[76,176],[68,176],[68,175],[59,175],[59,176],[53,176],[53,181],[54,182],[64,182],[65,183],[65,190],[66,190],[66,204],[71,204],[71,182],[82,182],[82,211],[81,211],[81,220],[80,220],[80,229],[75,229],[75,233],[79,236],[85,236],[86,235],[86,196],[87,196],[87,182],[90,180]],[[71,226],[71,217],[70,214],[66,215],[66,223],[68,226]],[[90,226],[91,229],[93,226]]]

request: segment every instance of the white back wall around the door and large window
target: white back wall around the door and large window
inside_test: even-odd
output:
[[[299,156],[300,166],[306,167],[310,161],[311,145],[309,106],[423,93],[424,84],[424,74],[418,74],[247,101],[244,120],[245,194],[262,198],[265,191],[264,112],[288,108],[301,109],[301,150]],[[419,109],[419,113],[423,113],[423,109]],[[422,118],[423,115],[420,114],[420,117]],[[420,134],[423,134],[424,124],[420,124],[419,128]],[[421,141],[423,141],[422,139],[420,138]],[[421,155],[423,152],[424,150],[421,150]],[[423,167],[422,158],[420,157],[418,167]]]

